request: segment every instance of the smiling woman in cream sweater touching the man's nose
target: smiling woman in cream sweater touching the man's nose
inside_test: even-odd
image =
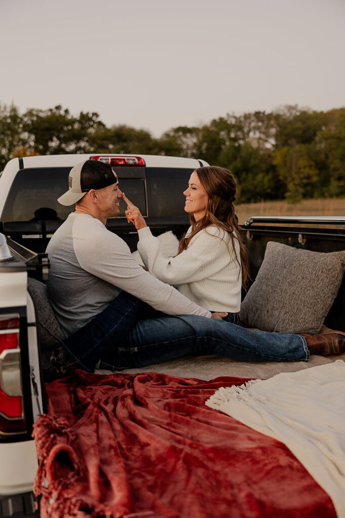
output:
[[[248,261],[233,205],[235,178],[222,167],[200,167],[192,172],[183,194],[191,227],[180,241],[178,254],[168,258],[160,252],[160,240],[152,236],[139,210],[124,196],[127,219],[138,229],[138,251],[156,278],[177,285],[183,295],[205,309],[227,312],[227,319],[236,322]]]

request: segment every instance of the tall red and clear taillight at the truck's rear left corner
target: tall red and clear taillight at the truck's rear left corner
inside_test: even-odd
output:
[[[19,316],[0,315],[0,433],[23,430]]]

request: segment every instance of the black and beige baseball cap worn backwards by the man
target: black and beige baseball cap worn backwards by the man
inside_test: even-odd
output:
[[[68,191],[57,198],[57,201],[65,206],[74,205],[90,189],[103,189],[117,181],[118,178],[109,164],[86,160],[71,168],[68,176]]]

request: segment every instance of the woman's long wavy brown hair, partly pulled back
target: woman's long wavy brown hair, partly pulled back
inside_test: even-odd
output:
[[[233,205],[236,199],[236,180],[230,171],[218,166],[199,167],[195,172],[208,196],[206,211],[198,222],[195,221],[194,214],[190,214],[192,232],[188,237],[181,239],[178,254],[188,248],[190,240],[203,228],[206,229],[210,225],[221,228],[232,240],[236,261],[239,266],[242,265],[242,286],[246,287],[249,280],[248,257]],[[239,244],[240,257],[236,254],[235,239]]]

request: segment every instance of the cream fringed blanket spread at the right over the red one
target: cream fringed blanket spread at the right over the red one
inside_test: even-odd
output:
[[[345,363],[222,387],[206,405],[283,442],[345,518]]]

